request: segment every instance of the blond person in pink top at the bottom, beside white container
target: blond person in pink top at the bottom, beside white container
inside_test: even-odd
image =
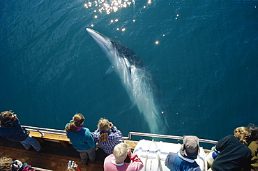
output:
[[[125,163],[126,157],[129,156],[131,163]],[[121,142],[114,147],[114,154],[105,158],[105,171],[137,171],[142,170],[144,164],[137,154],[132,154],[128,144]]]

